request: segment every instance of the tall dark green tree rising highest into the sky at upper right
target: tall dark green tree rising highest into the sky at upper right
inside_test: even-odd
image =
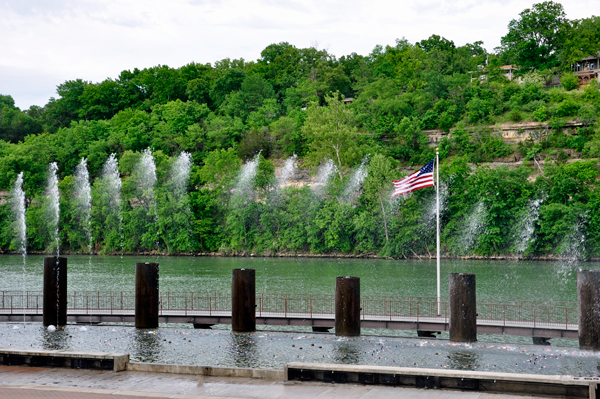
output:
[[[522,68],[556,67],[567,22],[562,4],[536,3],[519,16],[510,21],[508,33],[501,39],[505,60]]]

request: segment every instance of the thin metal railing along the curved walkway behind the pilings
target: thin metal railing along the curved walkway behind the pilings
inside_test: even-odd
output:
[[[41,291],[0,291],[0,313],[42,314]],[[133,314],[135,293],[128,291],[72,291],[67,296],[69,313]],[[160,294],[161,315],[229,315],[229,292],[165,292]],[[272,317],[333,318],[335,296],[329,294],[257,293],[256,315]],[[576,302],[477,300],[478,322],[503,326],[573,329],[578,323]],[[363,295],[363,320],[448,322],[449,304],[436,297]]]

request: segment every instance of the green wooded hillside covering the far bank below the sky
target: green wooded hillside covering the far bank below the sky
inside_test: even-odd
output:
[[[438,147],[445,256],[598,259],[600,17],[537,3],[501,44],[281,42],[2,93],[0,252],[430,259],[433,188],[391,194]]]

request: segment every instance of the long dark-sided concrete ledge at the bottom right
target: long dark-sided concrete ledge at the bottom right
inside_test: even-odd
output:
[[[596,398],[600,378],[327,363],[288,363],[285,380]]]

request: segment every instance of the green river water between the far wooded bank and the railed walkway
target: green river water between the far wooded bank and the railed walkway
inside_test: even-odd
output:
[[[134,291],[135,263],[160,263],[161,291],[231,290],[231,269],[256,269],[256,291],[333,294],[335,277],[361,279],[365,295],[436,295],[435,260],[68,256],[69,290]],[[442,297],[449,273],[475,273],[477,297],[577,301],[577,269],[600,263],[443,260]],[[0,290],[42,290],[43,256],[0,256]]]

